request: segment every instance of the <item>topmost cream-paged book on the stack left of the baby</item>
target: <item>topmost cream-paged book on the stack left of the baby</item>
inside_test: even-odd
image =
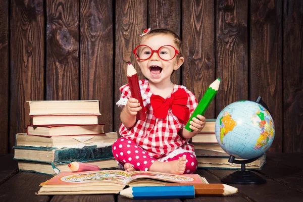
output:
[[[29,115],[100,114],[99,100],[41,100],[27,102],[29,103]]]

